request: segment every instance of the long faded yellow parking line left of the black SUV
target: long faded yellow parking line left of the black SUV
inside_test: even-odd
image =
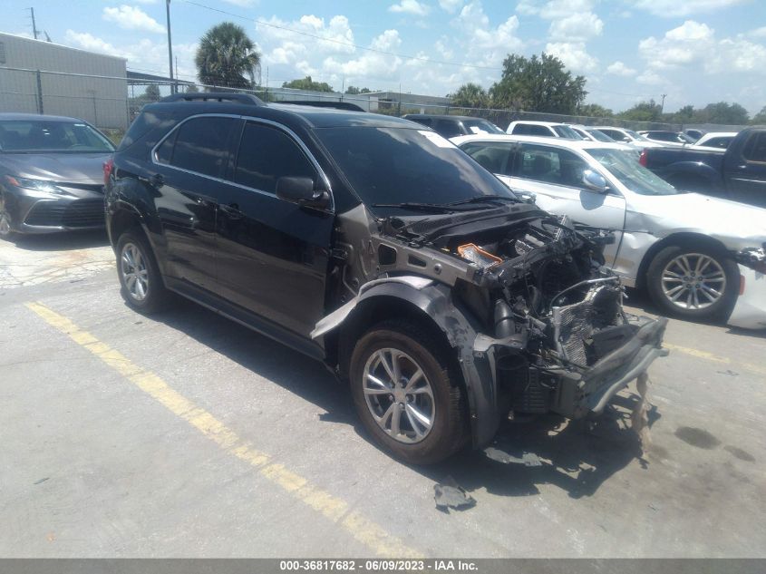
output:
[[[275,462],[266,452],[253,448],[251,443],[218,421],[212,414],[199,408],[182,394],[170,388],[158,375],[135,365],[119,351],[102,343],[87,331],[83,331],[69,318],[59,315],[40,303],[26,303],[25,305],[38,316],[41,316],[49,325],[69,336],[75,343],[82,345],[100,358],[103,363],[125,376],[131,383],[138,386],[144,393],[149,394],[171,413],[187,421],[223,450],[257,468],[262,476],[274,482],[283,491],[304,502],[305,505],[319,512],[326,519],[339,524],[368,549],[381,556],[422,557],[420,552],[405,546],[402,540],[394,537],[373,520],[365,518],[357,511],[350,511],[346,501],[323,491],[302,476],[291,472],[279,462]]]

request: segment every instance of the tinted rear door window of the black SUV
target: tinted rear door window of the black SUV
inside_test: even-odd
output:
[[[219,117],[194,118],[183,123],[176,136],[170,165],[220,177],[234,124],[233,118]]]

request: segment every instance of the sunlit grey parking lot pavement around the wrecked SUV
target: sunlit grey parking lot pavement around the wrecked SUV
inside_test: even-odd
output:
[[[652,313],[639,294],[631,309]],[[593,425],[396,462],[325,368],[189,302],[141,316],[100,233],[0,242],[0,556],[766,557],[766,334],[672,320]],[[476,504],[440,511],[451,477]]]

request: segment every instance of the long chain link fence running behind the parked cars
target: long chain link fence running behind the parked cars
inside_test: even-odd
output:
[[[128,77],[58,73],[0,67],[0,112],[29,112],[73,116],[91,122],[119,140],[141,108],[171,92],[246,92],[265,102],[348,102],[364,112],[401,117],[407,113],[468,115],[484,118],[505,129],[516,120],[612,125],[632,130],[680,131],[691,125],[661,122],[631,122],[616,118],[596,118],[556,113],[525,112],[454,106],[447,98],[418,96],[399,92],[348,94],[307,92],[289,88],[232,90],[230,88],[170,80],[152,81]],[[708,131],[737,131],[742,126],[713,126]]]

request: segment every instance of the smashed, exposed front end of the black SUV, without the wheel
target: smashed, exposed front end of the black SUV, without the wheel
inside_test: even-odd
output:
[[[399,297],[455,349],[473,443],[517,413],[601,413],[658,356],[666,320],[625,314],[602,267],[612,240],[534,205],[428,217],[339,216],[338,308],[313,336],[343,326],[376,297]]]

